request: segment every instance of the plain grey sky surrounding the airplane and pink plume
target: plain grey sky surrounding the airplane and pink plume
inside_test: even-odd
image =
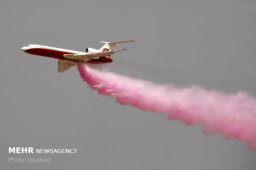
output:
[[[115,49],[109,70],[175,86],[256,96],[255,0],[2,0],[0,166],[5,170],[255,170],[256,151],[202,125],[120,106],[76,67],[26,54],[26,44]],[[8,147],[77,148],[77,154],[8,154]],[[8,157],[51,163],[8,163]]]

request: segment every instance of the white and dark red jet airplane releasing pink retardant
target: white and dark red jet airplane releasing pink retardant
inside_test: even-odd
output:
[[[102,42],[102,41],[100,41]],[[34,54],[38,56],[45,56],[58,59],[58,72],[64,72],[69,70],[72,66],[76,66],[78,62],[88,63],[111,63],[113,60],[110,58],[111,54],[115,54],[118,51],[124,51],[127,49],[114,50],[114,47],[130,41],[121,42],[102,42],[104,45],[100,49],[86,48],[86,52],[73,51],[68,49],[60,49],[56,47],[48,47],[44,45],[28,44],[21,48],[22,51],[28,54]]]

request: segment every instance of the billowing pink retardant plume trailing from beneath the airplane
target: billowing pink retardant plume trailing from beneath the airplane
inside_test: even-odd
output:
[[[256,150],[256,98],[245,92],[226,94],[201,86],[186,88],[133,79],[78,63],[81,77],[92,90],[116,98],[121,105],[165,113],[186,125],[203,124],[206,135],[221,133]]]

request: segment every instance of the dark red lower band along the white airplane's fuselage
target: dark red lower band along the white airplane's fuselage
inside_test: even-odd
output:
[[[50,58],[57,58],[62,60],[69,60],[69,61],[75,61],[78,62],[79,60],[72,60],[69,58],[65,58],[64,54],[75,54],[75,53],[69,53],[65,51],[58,51],[58,50],[52,50],[52,49],[44,49],[44,48],[33,48],[33,49],[27,49],[25,51],[28,54],[33,54],[37,56],[44,56],[44,57],[50,57]],[[93,59],[90,61],[87,61],[88,63],[110,63],[113,60],[111,58],[107,58],[105,56],[102,56],[98,59]]]

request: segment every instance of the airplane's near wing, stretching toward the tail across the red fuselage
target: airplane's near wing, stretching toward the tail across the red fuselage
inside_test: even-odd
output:
[[[123,51],[123,50],[127,50],[127,49],[117,49],[112,51],[103,51],[103,52],[87,53],[87,54],[64,54],[64,57],[73,59],[73,60],[81,60],[81,61],[87,62],[89,60],[98,59],[99,57],[115,54],[116,52]]]

